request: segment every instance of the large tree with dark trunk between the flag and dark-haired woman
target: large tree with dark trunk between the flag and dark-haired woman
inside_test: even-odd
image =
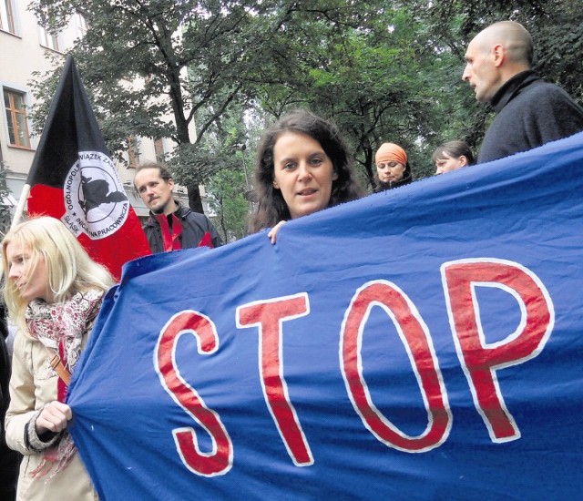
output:
[[[79,6],[76,0],[37,0],[32,6],[41,23],[56,31],[80,8],[87,34],[72,53],[108,146],[125,149],[125,139],[136,135],[173,138],[179,148],[170,167],[189,165],[189,205],[202,211],[199,183],[210,172],[199,169],[196,147],[240,96],[246,73],[261,59],[257,46],[277,31],[287,4],[292,2],[87,0]],[[128,85],[137,79],[142,85]],[[37,90],[38,97],[50,96],[50,86]]]

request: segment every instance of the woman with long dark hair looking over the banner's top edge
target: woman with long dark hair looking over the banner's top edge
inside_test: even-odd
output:
[[[257,149],[255,185],[258,209],[251,230],[271,228],[358,199],[352,158],[336,126],[310,111],[297,110],[265,131]]]

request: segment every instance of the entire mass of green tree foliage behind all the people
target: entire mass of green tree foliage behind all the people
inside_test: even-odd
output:
[[[33,3],[54,28],[77,4]],[[87,0],[87,36],[73,54],[109,147],[125,149],[128,136],[173,138],[176,179],[189,195],[210,183],[223,200],[213,210],[227,214],[237,211],[226,200],[240,197],[240,188],[228,190],[244,174],[233,145],[247,144],[251,158],[263,124],[295,107],[334,119],[369,186],[384,141],[407,150],[417,178],[433,175],[431,154],[445,140],[465,139],[476,150],[492,112],[461,80],[465,46],[495,21],[527,26],[536,69],[583,100],[582,7],[583,0]],[[137,78],[141,86],[128,87]],[[36,92],[50,97],[52,89],[38,81]],[[238,225],[225,223],[227,238],[240,234]]]

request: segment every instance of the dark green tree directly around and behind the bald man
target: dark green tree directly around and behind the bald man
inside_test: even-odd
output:
[[[484,137],[493,111],[476,103],[467,84],[461,82],[461,75],[467,44],[479,31],[496,21],[510,19],[526,26],[535,44],[534,69],[583,103],[583,75],[579,63],[583,40],[581,0],[443,0],[432,3],[419,0],[409,3],[409,7],[424,25],[428,47],[441,60],[435,72],[442,96],[435,112],[443,118],[436,129],[437,143],[461,138],[477,149]]]

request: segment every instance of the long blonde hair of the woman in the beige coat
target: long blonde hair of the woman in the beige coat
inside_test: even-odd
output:
[[[13,242],[31,252],[26,281],[33,277],[39,257],[45,259],[46,285],[52,293],[53,302],[64,302],[79,291],[107,291],[114,283],[109,271],[89,258],[60,220],[43,216],[16,225],[2,240],[4,300],[10,320],[23,332],[27,332],[25,312],[28,301],[21,296],[15,281],[8,277],[10,270],[6,248]]]

